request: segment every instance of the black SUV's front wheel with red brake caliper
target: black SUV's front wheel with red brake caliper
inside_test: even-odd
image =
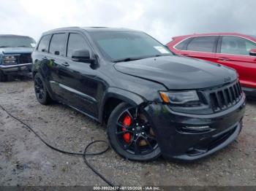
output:
[[[129,160],[155,160],[161,150],[152,132],[154,128],[143,111],[136,109],[121,103],[110,114],[107,126],[110,145],[118,155]]]

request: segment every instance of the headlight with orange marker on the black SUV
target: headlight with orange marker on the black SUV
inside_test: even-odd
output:
[[[162,101],[166,104],[177,105],[195,105],[200,104],[197,92],[195,90],[180,91],[180,92],[159,92]]]

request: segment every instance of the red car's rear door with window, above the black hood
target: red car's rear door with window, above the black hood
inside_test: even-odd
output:
[[[219,36],[196,36],[192,37],[180,55],[203,59],[206,61],[216,61],[215,53]]]

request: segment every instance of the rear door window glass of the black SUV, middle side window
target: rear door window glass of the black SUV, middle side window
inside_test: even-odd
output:
[[[66,34],[53,34],[49,52],[54,55],[65,55]]]

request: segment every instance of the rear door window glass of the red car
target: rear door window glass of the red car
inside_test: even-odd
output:
[[[200,36],[195,37],[189,42],[187,50],[200,51],[200,52],[214,52],[214,43],[217,36]]]

